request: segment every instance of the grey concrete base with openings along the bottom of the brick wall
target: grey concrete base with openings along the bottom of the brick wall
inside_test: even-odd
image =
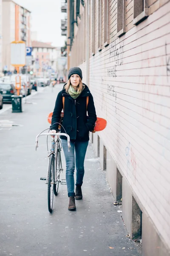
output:
[[[103,168],[104,143],[101,139],[98,139],[98,133],[93,135],[90,133],[91,141],[92,136],[95,154],[96,156],[99,156],[99,160]],[[117,198],[120,199],[120,190],[122,190],[122,218],[126,225],[127,231],[130,234],[130,238],[134,236],[134,230],[138,230],[138,227],[136,227],[136,222],[138,221],[138,225],[140,226],[141,221],[140,228],[142,229],[142,256],[170,256],[170,248],[167,248],[164,242],[161,240],[155,225],[147,215],[147,212],[143,208],[139,198],[133,192],[132,187],[130,186],[126,177],[123,175],[122,170],[119,168],[119,166],[117,166],[115,160],[108,150],[106,155],[106,178],[109,186],[111,187],[115,201],[118,200]],[[142,212],[141,219],[139,218],[140,212]]]

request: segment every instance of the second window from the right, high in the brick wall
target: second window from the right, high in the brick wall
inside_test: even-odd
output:
[[[125,14],[126,14],[126,1],[117,0],[117,36],[125,34],[126,24],[125,24]]]

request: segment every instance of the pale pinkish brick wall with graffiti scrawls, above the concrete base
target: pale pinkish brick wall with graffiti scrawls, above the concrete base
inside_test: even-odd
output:
[[[104,0],[101,0],[102,5]],[[98,13],[96,1],[95,13]],[[117,38],[117,2],[109,1],[110,44],[92,56],[90,6],[89,87],[97,116],[108,120],[100,139],[121,168],[152,219],[170,243],[170,1],[149,0],[146,20],[133,25],[133,1],[127,0],[125,35]],[[78,32],[79,33],[79,32]],[[78,35],[78,34],[77,34]],[[77,47],[75,38],[74,47]],[[74,54],[71,55],[72,65]],[[86,62],[76,62],[86,73]],[[85,77],[86,78],[86,77]]]

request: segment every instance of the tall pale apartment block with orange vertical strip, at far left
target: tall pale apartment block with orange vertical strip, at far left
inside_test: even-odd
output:
[[[13,71],[11,66],[10,44],[12,41],[25,41],[31,47],[31,12],[12,0],[3,0],[3,67]]]

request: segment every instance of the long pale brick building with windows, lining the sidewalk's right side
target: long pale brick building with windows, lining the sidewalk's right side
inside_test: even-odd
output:
[[[143,256],[170,255],[170,1],[67,0],[79,66],[105,130],[91,134]],[[64,8],[63,8],[64,9]]]

